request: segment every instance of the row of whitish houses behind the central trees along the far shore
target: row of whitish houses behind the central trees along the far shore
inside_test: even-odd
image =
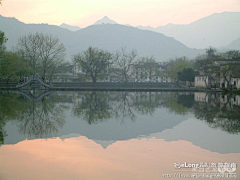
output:
[[[167,62],[158,62],[152,65],[151,68],[144,67],[144,64],[133,64],[128,72],[128,82],[172,82],[171,78],[165,75]],[[98,79],[98,82],[121,82],[119,74],[120,70],[114,67],[108,67],[103,72],[103,76]],[[53,81],[91,81],[86,78],[86,73],[77,65],[65,65],[58,67]]]

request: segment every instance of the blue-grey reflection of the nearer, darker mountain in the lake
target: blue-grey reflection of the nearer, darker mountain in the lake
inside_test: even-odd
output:
[[[70,112],[66,113],[66,122],[59,132],[54,133],[51,137],[62,137],[64,135],[76,134],[86,136],[96,142],[102,142],[102,146],[106,141],[128,140],[148,136],[152,133],[161,132],[165,129],[173,128],[180,122],[186,119],[185,116],[177,116],[169,114],[166,109],[159,109],[153,117],[138,116],[135,122],[125,121],[123,124],[115,119],[110,119],[98,124],[89,125],[86,121],[81,121],[79,118],[72,117]],[[5,130],[8,136],[5,138],[6,144],[12,144],[28,138],[27,135],[17,135],[16,124],[7,123]],[[66,136],[69,137],[69,136]]]

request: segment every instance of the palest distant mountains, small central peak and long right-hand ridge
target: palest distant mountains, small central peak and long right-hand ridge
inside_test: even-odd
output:
[[[105,16],[93,25],[97,24],[117,23]],[[213,46],[222,49],[240,38],[240,12],[215,13],[187,25],[167,24],[156,28],[151,26],[137,26],[136,28],[173,37],[190,48],[204,49]],[[240,49],[236,43],[227,48]]]

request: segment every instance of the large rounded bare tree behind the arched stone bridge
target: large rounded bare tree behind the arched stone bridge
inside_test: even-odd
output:
[[[35,33],[18,40],[18,52],[30,63],[34,74],[38,72],[51,79],[55,67],[64,61],[66,48],[52,35]]]

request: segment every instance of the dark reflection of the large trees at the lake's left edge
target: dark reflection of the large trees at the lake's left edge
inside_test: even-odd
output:
[[[7,121],[14,120],[19,131],[29,136],[43,137],[57,132],[64,124],[62,107],[50,97],[38,102],[24,99],[17,93],[0,93],[0,141],[4,142]]]

